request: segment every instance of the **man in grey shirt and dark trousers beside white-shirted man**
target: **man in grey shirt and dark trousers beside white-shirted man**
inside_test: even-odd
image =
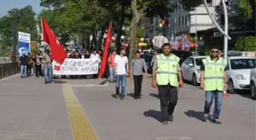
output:
[[[133,79],[134,82],[135,99],[141,98],[143,69],[145,70],[146,77],[148,77],[146,61],[143,58],[140,58],[140,52],[136,51],[135,58],[130,64],[130,79]]]

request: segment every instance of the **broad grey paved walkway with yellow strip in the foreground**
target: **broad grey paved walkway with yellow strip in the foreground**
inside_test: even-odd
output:
[[[204,93],[186,85],[179,91],[174,122],[163,126],[159,122],[158,92],[151,88],[151,79],[144,80],[140,100],[131,96],[130,79],[126,85],[126,98],[120,101],[111,97],[115,94],[115,84],[104,83],[104,79],[58,79],[50,85],[34,77],[2,81],[0,140],[256,138],[256,101],[239,95],[224,98],[222,125],[203,123]]]

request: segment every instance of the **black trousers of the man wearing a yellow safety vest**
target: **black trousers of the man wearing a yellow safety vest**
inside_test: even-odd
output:
[[[173,114],[177,104],[178,89],[177,87],[168,84],[166,86],[158,86],[158,92],[160,95],[162,119],[167,120],[168,114]]]

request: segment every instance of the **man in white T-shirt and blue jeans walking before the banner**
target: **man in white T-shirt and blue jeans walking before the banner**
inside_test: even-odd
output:
[[[120,55],[116,55],[114,59],[114,71],[115,76],[117,76],[117,83],[116,83],[116,95],[115,98],[120,98],[121,100],[124,99],[124,92],[126,87],[126,76],[129,73],[129,66],[128,66],[128,58],[124,56],[126,51],[124,48],[121,49]],[[119,92],[121,86],[121,92]]]

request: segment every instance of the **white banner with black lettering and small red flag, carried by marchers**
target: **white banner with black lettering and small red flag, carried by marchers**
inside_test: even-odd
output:
[[[91,75],[98,74],[98,59],[66,58],[62,64],[53,61],[54,75]]]

